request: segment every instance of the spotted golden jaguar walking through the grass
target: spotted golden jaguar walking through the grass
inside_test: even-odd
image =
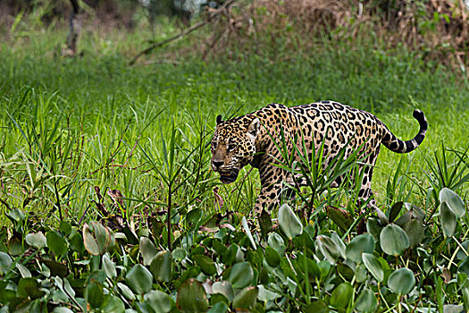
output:
[[[288,172],[274,165],[281,159],[274,142],[280,143],[281,131],[284,138],[303,136],[310,155],[314,147],[321,147],[323,140],[323,154],[329,155],[328,159],[344,147],[345,157],[348,157],[363,145],[365,158],[363,165],[359,165],[359,170],[363,170],[359,197],[366,200],[373,195],[373,166],[381,143],[397,153],[410,152],[422,143],[428,124],[422,111],[415,110],[413,115],[420,124],[420,131],[413,140],[407,141],[398,140],[373,114],[332,101],[293,107],[271,104],[228,121],[222,121],[219,115],[212,140],[212,168],[220,173],[223,183],[236,181],[239,170],[245,165],[258,168],[261,191],[255,212],[260,212],[263,207],[271,210],[278,203],[284,187],[282,182],[292,182]],[[289,148],[292,148],[291,141]]]

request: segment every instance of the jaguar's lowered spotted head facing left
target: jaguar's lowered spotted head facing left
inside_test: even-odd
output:
[[[249,164],[255,154],[255,139],[261,122],[254,115],[222,121],[216,118],[212,140],[212,169],[220,173],[220,181],[236,181],[239,170]]]

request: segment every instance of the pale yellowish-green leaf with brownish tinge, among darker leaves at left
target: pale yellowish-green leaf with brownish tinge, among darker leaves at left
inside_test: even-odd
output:
[[[102,256],[115,244],[113,231],[94,221],[83,225],[83,241],[86,250],[94,256]]]

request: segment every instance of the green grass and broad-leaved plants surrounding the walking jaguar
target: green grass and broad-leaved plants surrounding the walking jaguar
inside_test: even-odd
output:
[[[469,309],[460,72],[373,34],[205,61],[179,55],[197,45],[184,38],[130,67],[141,32],[83,32],[84,55],[63,58],[66,32],[40,31],[0,43],[3,310]],[[413,109],[426,114],[421,148],[382,149],[373,189],[384,213],[360,214],[356,190],[316,173],[296,201],[247,218],[258,178],[246,168],[218,182],[214,117],[322,99],[369,110],[402,139],[418,129]]]

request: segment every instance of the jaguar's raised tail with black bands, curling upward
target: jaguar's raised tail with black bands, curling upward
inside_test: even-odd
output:
[[[427,119],[425,118],[425,114],[423,114],[423,112],[420,110],[414,110],[413,116],[420,124],[420,131],[417,133],[414,139],[407,141],[399,140],[391,131],[389,131],[388,127],[384,126],[385,132],[381,141],[384,147],[389,148],[389,150],[397,153],[407,153],[415,150],[415,148],[420,146],[423,139],[425,138],[428,123]]]

